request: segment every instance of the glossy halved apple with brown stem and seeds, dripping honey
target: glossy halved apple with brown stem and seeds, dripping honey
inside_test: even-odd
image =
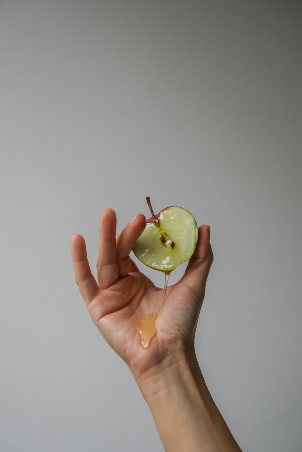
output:
[[[154,215],[149,197],[146,199],[152,217],[147,220],[133,252],[148,267],[170,274],[194,253],[197,223],[190,212],[177,206],[166,207]]]

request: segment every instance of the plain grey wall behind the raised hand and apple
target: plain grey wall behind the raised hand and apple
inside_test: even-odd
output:
[[[101,210],[147,195],[211,225],[196,349],[236,440],[301,451],[301,12],[0,2],[1,451],[163,450],[70,257],[81,233],[95,271]]]

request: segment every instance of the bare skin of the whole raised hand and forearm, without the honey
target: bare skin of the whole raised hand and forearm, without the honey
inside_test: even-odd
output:
[[[139,214],[115,236],[115,212],[103,210],[97,281],[83,237],[72,235],[72,261],[81,295],[93,322],[137,381],[166,451],[240,451],[211,398],[194,352],[213,262],[210,227],[199,227],[195,253],[184,276],[168,287],[156,320],[157,333],[142,348],[135,320],[154,312],[163,298],[163,290],[154,287],[129,257],[145,226],[146,219]]]

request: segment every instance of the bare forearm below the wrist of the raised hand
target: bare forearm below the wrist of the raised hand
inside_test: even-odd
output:
[[[193,350],[177,351],[138,378],[166,452],[240,451],[216,407]],[[170,363],[169,363],[170,361]]]

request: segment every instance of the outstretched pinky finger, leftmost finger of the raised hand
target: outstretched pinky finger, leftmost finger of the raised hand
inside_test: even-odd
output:
[[[100,288],[94,276],[91,273],[87,259],[85,240],[79,234],[72,235],[72,262],[77,285],[79,286],[81,296],[88,306],[91,300],[96,297]]]

